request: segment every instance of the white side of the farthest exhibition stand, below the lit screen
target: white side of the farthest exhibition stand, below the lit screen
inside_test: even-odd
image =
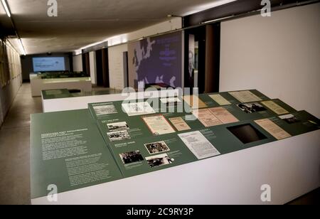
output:
[[[32,97],[40,97],[42,90],[77,89],[82,92],[92,91],[91,78],[40,79],[36,75],[30,75],[30,85]]]

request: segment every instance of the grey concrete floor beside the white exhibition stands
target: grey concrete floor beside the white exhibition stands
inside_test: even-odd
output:
[[[39,112],[41,97],[31,97],[23,83],[0,129],[0,205],[30,204],[30,114]],[[289,204],[319,203],[319,197],[318,189]]]

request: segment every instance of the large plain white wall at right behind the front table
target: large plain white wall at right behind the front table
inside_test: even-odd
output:
[[[320,4],[221,23],[220,91],[257,89],[320,117]]]

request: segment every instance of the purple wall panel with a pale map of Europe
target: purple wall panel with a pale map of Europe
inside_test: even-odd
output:
[[[181,57],[181,32],[129,43],[129,86],[161,84],[181,87]]]

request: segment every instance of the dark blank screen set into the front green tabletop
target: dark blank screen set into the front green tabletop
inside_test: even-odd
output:
[[[242,141],[243,144],[267,139],[267,137],[253,127],[252,124],[242,124],[235,127],[228,127],[228,129],[235,137]]]

